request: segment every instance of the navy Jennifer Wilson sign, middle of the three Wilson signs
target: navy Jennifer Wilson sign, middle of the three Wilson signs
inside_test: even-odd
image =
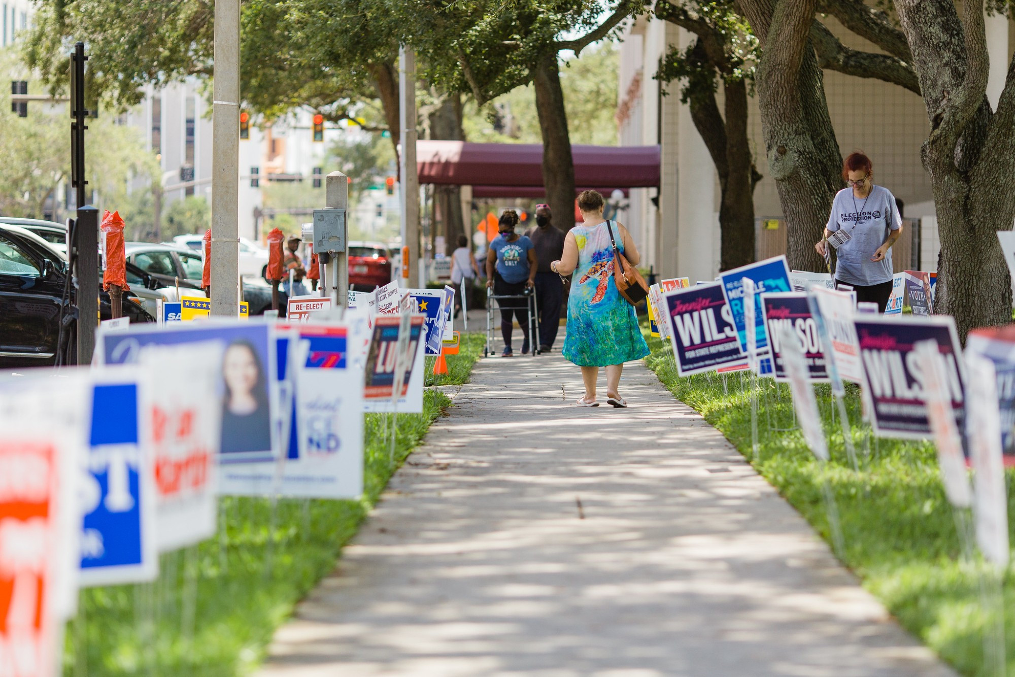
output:
[[[781,340],[781,330],[789,330],[800,344],[807,377],[811,381],[828,381],[824,351],[818,337],[818,327],[811,317],[811,309],[806,292],[789,291],[761,294],[761,311],[764,313],[765,327],[771,341],[771,359],[775,381],[787,381],[785,347]],[[780,331],[777,331],[780,330]]]

